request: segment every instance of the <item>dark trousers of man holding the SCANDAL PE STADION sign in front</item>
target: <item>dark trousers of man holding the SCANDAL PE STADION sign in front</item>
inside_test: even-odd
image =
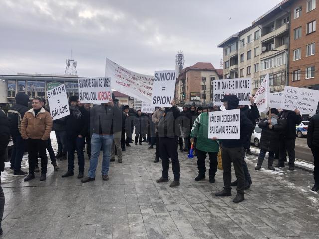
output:
[[[231,191],[231,163],[234,165],[235,175],[238,180],[237,193],[244,194],[245,177],[243,170],[244,147],[222,147],[221,158],[223,163],[224,189]]]

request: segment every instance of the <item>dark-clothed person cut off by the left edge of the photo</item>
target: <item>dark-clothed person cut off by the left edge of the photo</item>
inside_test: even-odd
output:
[[[10,123],[4,111],[0,108],[0,235],[3,234],[2,218],[4,213],[5,197],[1,187],[1,172],[4,171],[4,159],[7,157],[6,148],[10,140]]]

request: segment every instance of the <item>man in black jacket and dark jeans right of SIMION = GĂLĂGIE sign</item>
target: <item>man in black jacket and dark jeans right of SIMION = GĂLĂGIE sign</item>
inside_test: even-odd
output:
[[[88,130],[88,113],[83,107],[78,106],[78,97],[70,96],[70,115],[66,116],[66,138],[68,149],[68,171],[62,178],[74,175],[74,153],[78,155],[79,174],[84,176],[84,139]]]

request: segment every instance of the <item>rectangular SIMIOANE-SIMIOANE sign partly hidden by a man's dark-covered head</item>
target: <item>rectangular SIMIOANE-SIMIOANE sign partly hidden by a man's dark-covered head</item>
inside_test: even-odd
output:
[[[251,78],[223,79],[213,81],[214,105],[221,106],[224,95],[236,95],[239,105],[250,105]]]

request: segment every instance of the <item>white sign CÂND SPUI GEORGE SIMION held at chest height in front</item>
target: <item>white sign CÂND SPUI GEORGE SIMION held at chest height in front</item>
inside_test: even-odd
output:
[[[240,109],[209,112],[208,123],[208,138],[240,138]]]

